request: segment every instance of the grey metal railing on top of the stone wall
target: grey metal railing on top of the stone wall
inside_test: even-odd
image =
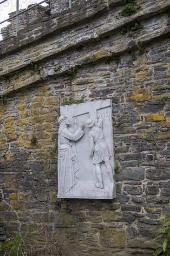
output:
[[[7,1],[8,1],[8,0],[3,0],[3,1],[0,2],[0,4],[3,4],[4,2],[7,2]],[[43,3],[45,3],[46,1],[47,1],[47,0],[43,0],[43,1],[39,2],[39,3],[37,3],[37,4],[34,4],[34,5],[31,6],[31,7],[29,7],[29,8],[27,8],[27,9],[25,9],[25,10],[19,12],[19,0],[16,0],[16,7],[17,7],[17,8],[16,8],[16,14],[13,15],[12,17],[8,18],[7,20],[1,21],[0,24],[2,24],[2,23],[4,23],[4,22],[7,22],[7,21],[9,21],[9,20],[12,20],[12,19],[14,19],[14,18],[17,18],[17,20],[16,20],[16,35],[18,35],[18,32],[19,32],[19,16],[20,16],[22,13],[25,13],[25,12],[27,12],[27,11],[33,9],[34,7],[37,7],[37,6],[39,6],[39,5],[43,4]],[[68,7],[69,7],[69,9],[72,8],[72,0],[68,0]],[[2,33],[0,33],[0,34],[2,34]]]

